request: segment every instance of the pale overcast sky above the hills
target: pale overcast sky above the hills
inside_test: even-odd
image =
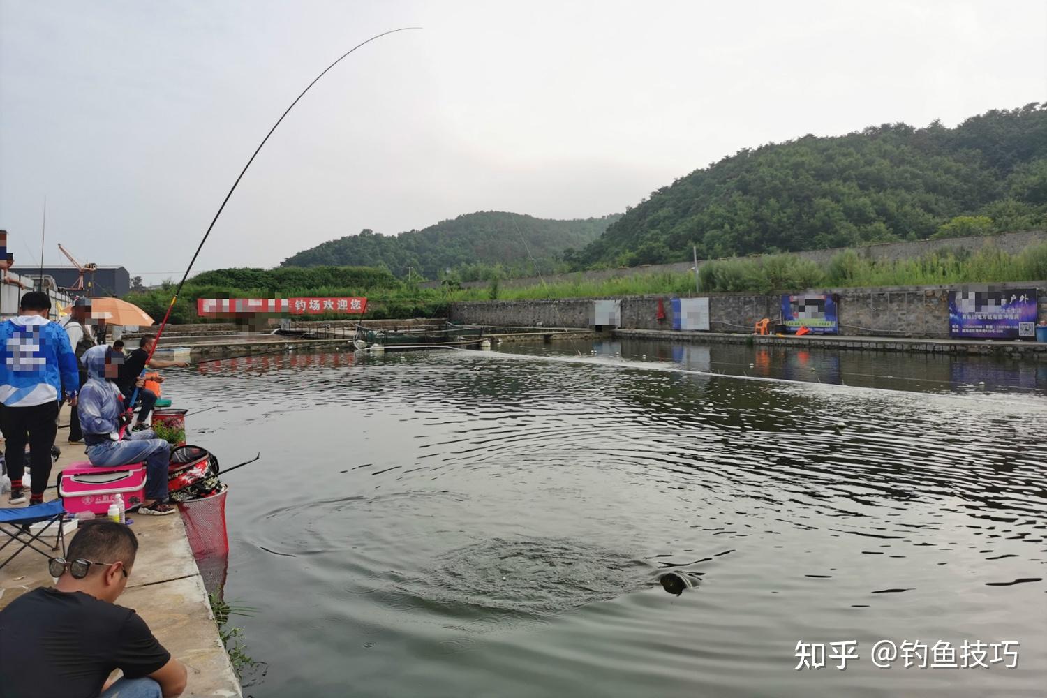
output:
[[[475,210],[623,211],[740,148],[1047,99],[1047,3],[0,0],[0,228],[147,284]]]

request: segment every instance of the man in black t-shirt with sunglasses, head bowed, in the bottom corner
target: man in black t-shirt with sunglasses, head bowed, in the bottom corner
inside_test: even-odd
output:
[[[0,611],[0,698],[171,698],[186,672],[149,626],[114,602],[127,586],[138,541],[126,525],[84,523],[55,588],[24,593]],[[113,670],[124,676],[107,682]]]

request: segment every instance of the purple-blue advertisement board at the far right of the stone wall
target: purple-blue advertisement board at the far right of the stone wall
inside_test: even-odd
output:
[[[953,339],[1033,339],[1037,289],[961,288],[949,292]]]

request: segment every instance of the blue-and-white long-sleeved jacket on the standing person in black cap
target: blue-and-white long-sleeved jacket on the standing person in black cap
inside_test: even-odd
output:
[[[80,390],[76,355],[58,322],[21,315],[0,323],[0,403],[31,407]]]

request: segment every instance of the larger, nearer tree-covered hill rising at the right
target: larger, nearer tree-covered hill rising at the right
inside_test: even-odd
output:
[[[742,150],[651,193],[579,267],[798,251],[1047,225],[1047,103],[946,129],[885,123]]]

